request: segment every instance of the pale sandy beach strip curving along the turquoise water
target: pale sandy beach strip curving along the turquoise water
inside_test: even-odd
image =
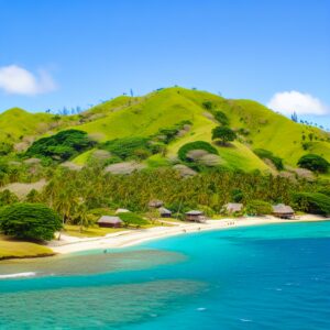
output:
[[[136,245],[151,240],[158,240],[167,237],[196,233],[206,230],[224,230],[228,228],[257,226],[267,223],[283,223],[283,222],[302,222],[302,221],[322,221],[327,220],[319,216],[305,215],[297,217],[294,220],[283,220],[272,216],[257,218],[237,218],[237,219],[221,219],[208,220],[206,223],[183,223],[170,222],[173,227],[154,227],[142,230],[128,230],[102,238],[77,239],[62,234],[61,241],[52,241],[48,246],[55,253],[74,253],[79,251],[95,250],[95,249],[119,249],[125,246]]]

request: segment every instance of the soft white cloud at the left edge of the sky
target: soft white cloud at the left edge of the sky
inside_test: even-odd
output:
[[[18,65],[0,67],[0,90],[14,95],[37,95],[56,89],[51,75],[41,69],[37,75]]]

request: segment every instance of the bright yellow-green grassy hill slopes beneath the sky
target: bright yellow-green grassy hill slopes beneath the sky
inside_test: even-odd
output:
[[[238,139],[228,146],[216,145],[211,131],[219,123],[212,117],[223,112]],[[64,129],[87,132],[100,143],[122,138],[150,138],[162,135],[164,129],[173,129],[189,122],[166,145],[166,150],[148,155],[147,166],[174,164],[178,150],[186,143],[206,141],[218,152],[220,164],[226,167],[262,172],[274,172],[270,162],[261,160],[253,150],[263,148],[284,160],[284,164],[297,167],[299,157],[316,153],[330,162],[329,133],[317,128],[296,123],[252,100],[231,100],[198,90],[166,88],[144,97],[122,96],[98,105],[79,116],[58,117],[32,114],[21,109],[11,109],[0,116],[0,141],[18,142],[22,136],[53,134]],[[96,148],[101,148],[96,146]],[[78,155],[73,162],[84,165],[92,151]]]

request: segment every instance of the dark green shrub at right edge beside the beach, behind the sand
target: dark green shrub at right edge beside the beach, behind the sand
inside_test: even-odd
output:
[[[294,194],[294,200],[301,211],[314,215],[330,215],[330,197],[321,193]]]

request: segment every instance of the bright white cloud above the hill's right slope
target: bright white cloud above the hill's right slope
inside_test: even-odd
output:
[[[297,114],[322,116],[330,112],[329,107],[319,99],[296,90],[275,94],[267,107],[284,114],[292,114],[295,111]]]

